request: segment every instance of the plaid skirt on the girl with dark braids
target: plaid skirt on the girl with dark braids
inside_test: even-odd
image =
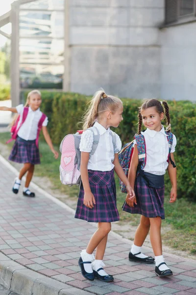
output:
[[[165,219],[164,211],[164,193],[165,186],[151,187],[147,185],[145,179],[139,174],[135,181],[135,195],[137,205],[129,207],[126,202],[123,204],[123,211],[132,214],[141,214],[145,217],[157,217]]]

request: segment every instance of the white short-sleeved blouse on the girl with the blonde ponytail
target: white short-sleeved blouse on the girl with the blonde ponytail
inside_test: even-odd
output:
[[[89,159],[88,169],[96,171],[111,171],[114,168],[114,154],[119,153],[122,147],[120,137],[116,135],[116,146],[114,150],[112,143],[111,130],[107,130],[99,124],[97,121],[94,124],[99,131],[99,142],[98,147]],[[86,130],[81,135],[79,149],[80,151],[90,152],[93,146],[93,132]]]

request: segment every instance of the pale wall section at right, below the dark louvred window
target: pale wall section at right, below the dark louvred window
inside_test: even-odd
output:
[[[196,101],[196,22],[160,31],[161,97]]]

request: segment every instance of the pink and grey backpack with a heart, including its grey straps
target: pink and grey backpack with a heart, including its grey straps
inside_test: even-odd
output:
[[[93,146],[90,152],[89,158],[95,153],[98,142],[99,142],[99,132],[97,127],[90,127],[87,130],[93,132]],[[61,162],[60,162],[60,180],[62,184],[72,186],[73,184],[79,185],[81,181],[80,177],[80,160],[81,152],[79,150],[79,144],[81,139],[81,134],[83,130],[78,130],[75,134],[66,135],[61,144]],[[116,135],[111,130],[112,142],[114,150],[116,149]]]

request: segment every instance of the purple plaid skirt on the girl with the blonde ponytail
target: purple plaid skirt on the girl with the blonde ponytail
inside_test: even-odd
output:
[[[119,212],[116,204],[116,184],[114,171],[88,170],[89,184],[95,197],[94,208],[88,208],[83,204],[84,188],[81,183],[75,218],[88,222],[112,222],[118,221]]]

